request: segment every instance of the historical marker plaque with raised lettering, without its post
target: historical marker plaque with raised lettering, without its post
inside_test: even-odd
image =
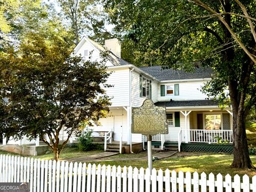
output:
[[[146,99],[141,107],[132,109],[132,133],[168,134],[165,107],[157,107]]]

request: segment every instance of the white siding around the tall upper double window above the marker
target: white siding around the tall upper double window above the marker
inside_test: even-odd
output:
[[[147,78],[147,77],[146,77]],[[132,71],[131,75],[131,102],[132,107],[140,107],[145,97],[140,97],[140,74],[137,71]],[[149,78],[148,78],[149,79]],[[152,79],[151,80],[151,99],[153,102],[157,102],[157,86],[158,83]]]

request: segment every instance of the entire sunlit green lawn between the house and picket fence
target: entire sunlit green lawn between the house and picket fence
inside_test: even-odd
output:
[[[89,152],[78,151],[77,148],[65,148],[60,155],[60,160],[68,160],[69,158],[75,157],[87,157],[96,153],[101,153],[101,150],[93,150]],[[4,151],[0,151],[1,154],[10,154]],[[154,154],[157,152],[153,153]],[[13,154],[11,154],[13,155]],[[101,159],[101,161],[91,161],[86,163],[95,163],[95,164],[105,164],[105,165],[120,165],[120,166],[132,166],[137,167],[147,167],[147,160],[140,159],[141,157],[146,157],[147,153],[142,152],[138,154],[119,154],[116,156],[107,157]],[[46,154],[37,156],[36,158],[41,159],[53,159],[53,154]],[[233,155],[229,154],[212,154],[212,153],[177,153],[172,157],[154,161],[153,167],[155,169],[169,169],[175,171],[190,171],[191,173],[197,171],[198,173],[205,172],[209,174],[213,172],[214,174],[221,173],[222,175],[230,174],[234,176],[235,174],[244,175],[247,174],[250,177],[256,175],[255,170],[243,170],[243,169],[234,169],[230,167],[232,162]],[[252,155],[251,160],[254,165],[256,165],[256,156]]]

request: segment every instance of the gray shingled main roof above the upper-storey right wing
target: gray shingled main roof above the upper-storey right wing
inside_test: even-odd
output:
[[[162,69],[162,66],[140,67],[140,69],[156,77],[159,81],[211,78],[213,74],[212,69],[203,67],[196,68],[194,73],[188,73],[182,70]]]

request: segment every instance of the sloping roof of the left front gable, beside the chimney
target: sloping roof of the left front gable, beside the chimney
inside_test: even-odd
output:
[[[87,38],[88,41],[91,42],[91,44],[93,44],[94,47],[96,47],[102,54],[105,54],[106,49],[101,46],[100,44],[92,41],[90,38]],[[106,58],[113,63],[114,66],[119,66],[119,65],[130,65],[129,62],[119,58],[117,55],[115,55],[113,52],[109,51],[109,53],[107,54]]]

